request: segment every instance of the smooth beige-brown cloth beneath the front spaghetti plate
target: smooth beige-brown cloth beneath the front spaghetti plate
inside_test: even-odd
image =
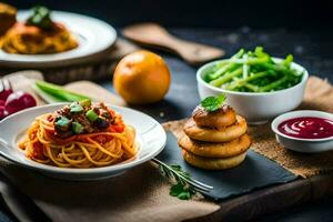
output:
[[[210,214],[218,204],[203,199],[181,201],[169,195],[170,183],[145,163],[109,180],[68,182],[2,164],[1,171],[53,221],[182,221]],[[8,201],[26,221],[14,200]]]

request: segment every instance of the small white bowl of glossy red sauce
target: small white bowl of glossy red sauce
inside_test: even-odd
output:
[[[292,111],[271,124],[280,144],[286,149],[316,153],[333,150],[333,114],[314,110]]]

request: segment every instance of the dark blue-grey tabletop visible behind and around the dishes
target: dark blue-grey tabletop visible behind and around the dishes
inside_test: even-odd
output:
[[[241,47],[253,49],[255,46],[264,47],[269,53],[275,57],[285,57],[287,53],[292,53],[295,62],[305,67],[311,74],[326,78],[331,82],[333,80],[333,54],[331,52],[333,31],[331,30],[295,32],[287,29],[252,30],[244,27],[231,30],[180,28],[171,29],[171,32],[188,40],[223,48],[226,51],[226,57],[233,54]],[[171,70],[172,84],[170,91],[165,99],[159,103],[133,108],[152,115],[160,122],[189,117],[192,109],[200,102],[195,81],[198,67],[191,67],[174,56],[157,52],[167,60]],[[113,91],[110,79],[99,83]],[[260,220],[292,221],[297,219],[296,221],[321,220],[324,222],[333,220],[332,210],[333,200],[327,198],[323,202],[265,215]],[[6,209],[3,212],[6,212]]]

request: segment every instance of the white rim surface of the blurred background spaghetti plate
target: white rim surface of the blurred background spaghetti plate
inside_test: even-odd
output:
[[[18,20],[22,20],[23,18],[26,19],[29,10],[20,10],[18,13]],[[61,21],[73,34],[85,37],[87,42],[84,44],[79,42],[79,47],[75,49],[51,54],[12,54],[0,50],[0,62],[50,63],[64,60],[75,60],[107,50],[115,42],[115,30],[107,22],[99,19],[64,11],[52,11],[51,17],[54,18],[54,21]],[[87,26],[82,26],[84,23]],[[102,31],[102,33],[97,33],[100,31]]]

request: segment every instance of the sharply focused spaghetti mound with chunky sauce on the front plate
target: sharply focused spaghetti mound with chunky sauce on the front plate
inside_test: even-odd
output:
[[[73,102],[36,118],[19,144],[27,157],[61,168],[98,168],[135,157],[135,130],[103,103]]]

